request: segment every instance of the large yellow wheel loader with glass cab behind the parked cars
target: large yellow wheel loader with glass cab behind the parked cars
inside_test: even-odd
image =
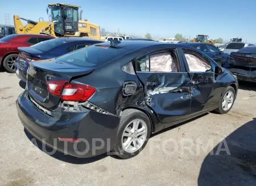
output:
[[[63,3],[49,4],[46,9],[49,21],[40,18],[39,22],[35,22],[14,15],[15,31],[17,34],[46,34],[56,38],[68,36],[100,39],[100,26],[86,19],[82,20],[82,10],[79,19],[79,8],[80,6]],[[23,25],[22,20],[27,24]]]

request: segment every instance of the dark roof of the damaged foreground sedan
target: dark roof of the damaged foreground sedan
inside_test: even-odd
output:
[[[101,43],[100,45],[110,46],[110,42]],[[150,46],[169,46],[169,47],[180,47],[179,44],[173,43],[163,43],[163,42],[155,42],[155,41],[147,41],[147,40],[128,40],[125,39],[120,41],[119,44],[116,44],[117,48],[125,48],[129,50],[137,50],[141,48],[146,48]]]

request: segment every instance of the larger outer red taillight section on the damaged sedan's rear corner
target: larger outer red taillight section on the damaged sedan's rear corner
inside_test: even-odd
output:
[[[96,92],[96,89],[89,85],[67,84],[64,86],[61,100],[64,101],[86,101]]]

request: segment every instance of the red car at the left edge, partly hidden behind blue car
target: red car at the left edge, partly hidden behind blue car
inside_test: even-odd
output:
[[[7,72],[15,73],[15,60],[19,55],[18,47],[53,39],[52,36],[40,34],[12,34],[0,39],[0,64]]]

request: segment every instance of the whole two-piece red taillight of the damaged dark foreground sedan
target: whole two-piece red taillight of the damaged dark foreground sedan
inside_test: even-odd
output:
[[[96,92],[96,89],[89,85],[70,83],[68,80],[48,81],[49,92],[61,96],[64,101],[86,101]],[[62,92],[62,94],[61,94]]]

